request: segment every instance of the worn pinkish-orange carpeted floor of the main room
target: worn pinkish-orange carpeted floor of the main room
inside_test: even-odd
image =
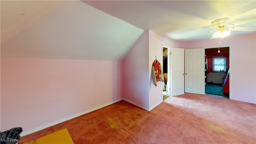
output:
[[[255,144],[256,104],[224,97],[170,96],[150,112],[124,100],[21,137],[67,128],[74,144]]]

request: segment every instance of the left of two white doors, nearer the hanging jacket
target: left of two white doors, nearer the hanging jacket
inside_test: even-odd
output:
[[[184,94],[184,49],[171,51],[171,96],[177,96]]]

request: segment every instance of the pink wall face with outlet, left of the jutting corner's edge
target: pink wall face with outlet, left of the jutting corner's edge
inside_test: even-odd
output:
[[[130,50],[123,64],[124,100],[148,110],[148,30]]]

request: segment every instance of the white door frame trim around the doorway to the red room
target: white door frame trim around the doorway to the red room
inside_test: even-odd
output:
[[[229,47],[229,99],[232,100],[232,45],[223,45],[223,46],[209,46],[209,47],[202,47],[205,49],[207,48],[224,48]]]

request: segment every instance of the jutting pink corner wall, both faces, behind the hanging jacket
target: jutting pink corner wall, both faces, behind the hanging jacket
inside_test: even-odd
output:
[[[155,56],[163,62],[162,45],[179,47],[178,43],[146,30],[124,59],[124,100],[149,111],[163,101],[162,82],[154,86],[152,81]]]

